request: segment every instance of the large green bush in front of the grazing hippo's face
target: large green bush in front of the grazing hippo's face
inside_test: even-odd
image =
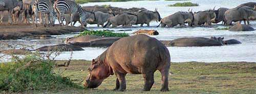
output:
[[[0,91],[24,92],[78,87],[69,78],[54,74],[53,68],[54,62],[35,55],[0,63]]]

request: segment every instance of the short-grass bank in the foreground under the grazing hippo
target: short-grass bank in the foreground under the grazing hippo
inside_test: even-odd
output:
[[[63,60],[58,60],[63,63]],[[82,86],[88,75],[91,61],[72,60],[68,67],[55,68],[55,73],[69,77]],[[256,63],[250,62],[183,62],[172,63],[169,75],[169,92],[160,92],[161,75],[155,73],[155,83],[151,91],[142,91],[142,75],[126,75],[127,89],[116,92],[115,76],[110,76],[96,89],[65,88],[59,90],[28,91],[34,93],[254,93],[256,92]]]

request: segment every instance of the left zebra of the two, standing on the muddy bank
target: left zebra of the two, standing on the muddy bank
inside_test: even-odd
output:
[[[45,22],[47,25],[49,25],[49,20],[50,24],[54,26],[54,22],[56,19],[56,12],[53,9],[53,0],[38,0],[36,3],[37,10],[41,13],[41,19],[42,19],[42,24],[45,26]],[[49,16],[50,15],[50,19]]]

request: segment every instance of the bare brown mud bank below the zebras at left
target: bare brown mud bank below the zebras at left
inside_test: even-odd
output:
[[[72,32],[81,32],[83,28],[79,27],[35,27],[35,25],[0,25],[0,40],[7,39],[44,39],[49,38],[50,35],[69,34]]]

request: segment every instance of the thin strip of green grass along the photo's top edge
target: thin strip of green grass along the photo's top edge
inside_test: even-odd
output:
[[[128,1],[145,1],[145,0],[76,0],[76,3],[84,4],[89,2],[128,2]],[[158,0],[150,0],[150,1],[158,1]]]

